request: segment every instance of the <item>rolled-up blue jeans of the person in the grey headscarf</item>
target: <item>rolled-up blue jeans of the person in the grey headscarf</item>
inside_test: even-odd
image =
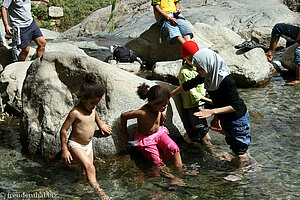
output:
[[[225,133],[225,140],[236,155],[246,153],[251,143],[250,116],[247,113],[235,120],[221,120],[222,129]]]

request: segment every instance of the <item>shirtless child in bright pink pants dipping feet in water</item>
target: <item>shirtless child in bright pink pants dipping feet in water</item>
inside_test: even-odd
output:
[[[161,126],[165,120],[163,112],[168,106],[171,91],[167,85],[155,85],[150,89],[148,88],[149,86],[143,83],[137,90],[139,97],[143,100],[147,99],[148,103],[138,110],[121,115],[121,144],[125,145],[129,138],[127,120],[137,118],[134,140],[138,141],[138,151],[141,151],[145,158],[153,163],[163,175],[176,182],[178,179],[175,180],[175,176],[164,173],[166,168],[162,162],[162,156],[159,154],[159,149],[161,149],[167,160],[172,160],[177,170],[182,171],[180,150],[168,136],[168,129]]]

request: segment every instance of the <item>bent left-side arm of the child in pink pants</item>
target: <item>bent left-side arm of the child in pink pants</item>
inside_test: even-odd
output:
[[[140,110],[132,110],[121,114],[121,135],[118,139],[121,139],[121,145],[125,145],[129,139],[129,134],[127,130],[127,120],[138,118],[140,115]]]

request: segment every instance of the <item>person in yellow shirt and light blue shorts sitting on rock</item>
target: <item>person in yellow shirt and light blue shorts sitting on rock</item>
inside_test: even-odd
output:
[[[169,44],[175,44],[176,40],[183,44],[193,38],[193,33],[180,11],[179,1],[152,0],[155,19]]]

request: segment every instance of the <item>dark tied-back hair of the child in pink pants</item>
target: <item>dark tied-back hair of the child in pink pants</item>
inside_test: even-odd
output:
[[[155,85],[149,89],[149,85],[143,83],[138,86],[137,94],[143,100],[148,99],[148,102],[159,103],[171,98],[171,90],[167,84]]]

